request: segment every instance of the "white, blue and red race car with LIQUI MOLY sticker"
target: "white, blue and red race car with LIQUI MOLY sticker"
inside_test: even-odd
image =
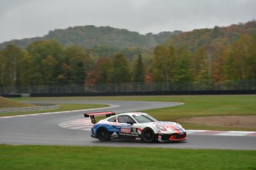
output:
[[[105,119],[96,123],[95,116],[106,115]],[[128,112],[116,115],[114,112],[85,113],[91,118],[93,127],[91,137],[100,141],[114,139],[154,141],[186,140],[186,130],[180,123],[158,121],[144,112]]]

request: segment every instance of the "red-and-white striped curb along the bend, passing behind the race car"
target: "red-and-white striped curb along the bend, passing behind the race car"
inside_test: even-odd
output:
[[[70,120],[58,124],[67,129],[79,129],[91,131],[93,123],[90,118],[83,118],[77,120]],[[212,130],[186,130],[188,135],[215,135],[215,136],[252,136],[256,137],[256,132],[244,131],[212,131]]]

